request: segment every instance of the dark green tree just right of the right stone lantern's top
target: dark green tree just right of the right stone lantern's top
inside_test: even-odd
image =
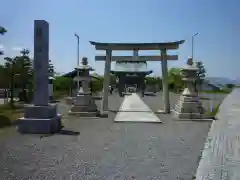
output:
[[[195,89],[198,92],[198,91],[201,91],[200,87],[202,86],[204,79],[206,77],[206,70],[202,61],[196,61],[196,67],[198,68],[198,71],[197,71],[197,80],[195,82]],[[197,88],[197,86],[199,88]]]

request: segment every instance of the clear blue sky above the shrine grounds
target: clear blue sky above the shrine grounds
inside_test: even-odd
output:
[[[186,40],[177,51],[179,60],[169,67],[182,67],[191,55],[195,37],[195,59],[203,61],[211,77],[240,78],[239,0],[8,0],[1,2],[0,25],[8,29],[0,48],[7,56],[19,48],[33,52],[33,22],[50,24],[50,59],[58,72],[76,66],[76,38],[80,36],[80,57],[89,58],[98,73],[103,62],[89,40],[100,42],[165,42]],[[114,52],[131,55],[132,52]],[[157,55],[159,52],[140,52]],[[2,57],[1,57],[2,58]],[[0,62],[3,62],[0,59]],[[160,62],[149,63],[154,75],[161,75]]]

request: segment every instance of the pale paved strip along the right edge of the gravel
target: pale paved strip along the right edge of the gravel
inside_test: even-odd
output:
[[[229,94],[213,121],[196,180],[240,179],[240,89]]]

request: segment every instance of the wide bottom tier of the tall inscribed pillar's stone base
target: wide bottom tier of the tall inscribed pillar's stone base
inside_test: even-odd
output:
[[[56,133],[62,128],[61,114],[51,119],[20,118],[17,122],[17,131],[29,134]]]

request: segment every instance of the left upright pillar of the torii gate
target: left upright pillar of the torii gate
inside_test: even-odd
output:
[[[111,58],[112,58],[112,50],[106,50],[106,61],[104,68],[104,81],[103,81],[103,98],[101,105],[101,114],[105,115],[106,111],[108,111],[108,95],[109,95],[109,83],[110,83],[110,70],[111,70]]]

